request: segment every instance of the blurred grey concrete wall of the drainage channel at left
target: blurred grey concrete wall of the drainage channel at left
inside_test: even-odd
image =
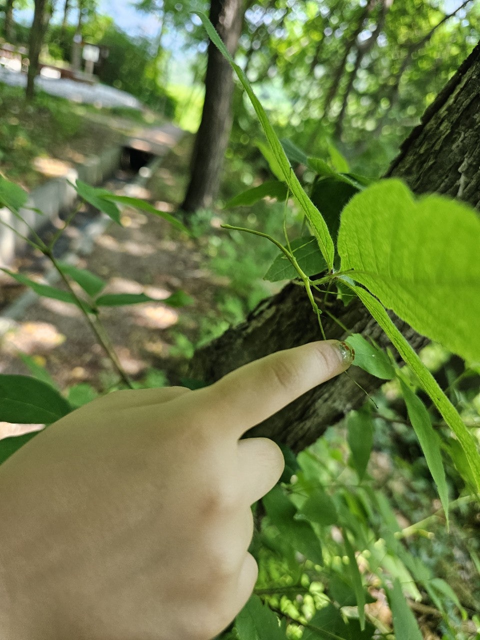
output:
[[[90,157],[84,164],[71,169],[64,177],[49,180],[33,189],[27,207],[20,209],[19,214],[22,220],[25,220],[30,227],[38,229],[45,223],[45,218],[55,218],[61,211],[71,209],[76,200],[76,191],[68,184],[68,180],[75,182],[78,178],[88,184],[101,184],[116,172],[120,166],[121,156],[121,147],[107,149],[100,156]],[[32,211],[32,208],[40,209],[45,215]],[[6,208],[0,209],[0,267],[10,267],[17,252],[26,245],[26,241],[12,229],[5,227],[2,221],[23,236],[28,236],[29,229],[22,220]]]

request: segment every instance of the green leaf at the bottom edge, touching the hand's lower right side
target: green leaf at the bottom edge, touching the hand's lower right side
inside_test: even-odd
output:
[[[285,628],[259,596],[251,596],[235,619],[239,640],[286,640]]]

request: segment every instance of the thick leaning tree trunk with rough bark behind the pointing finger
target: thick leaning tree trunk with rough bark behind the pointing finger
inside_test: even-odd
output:
[[[424,113],[421,124],[404,141],[387,176],[407,182],[415,193],[441,193],[480,206],[480,45],[461,65],[444,90]],[[454,294],[454,292],[452,292]],[[322,300],[319,305],[322,306]],[[343,307],[335,302],[328,310],[351,332],[362,333],[394,351],[380,327],[360,301]],[[394,317],[413,348],[427,340]],[[345,339],[339,324],[324,316],[329,339]],[[256,358],[310,340],[321,339],[316,317],[303,288],[288,284],[267,298],[246,321],[199,349],[189,375],[208,383]],[[381,381],[360,369],[349,375],[367,392]],[[345,374],[308,392],[248,435],[267,436],[301,451],[321,436],[349,410],[360,406],[365,394]]]

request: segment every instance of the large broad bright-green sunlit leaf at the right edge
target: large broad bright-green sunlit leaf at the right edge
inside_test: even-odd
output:
[[[442,196],[413,195],[399,180],[358,193],[342,212],[340,269],[415,331],[480,360],[480,218]]]

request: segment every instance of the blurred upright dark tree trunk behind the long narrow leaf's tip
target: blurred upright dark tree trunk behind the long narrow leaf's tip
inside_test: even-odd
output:
[[[212,0],[210,20],[230,54],[234,54],[243,22],[243,0]],[[181,209],[193,212],[211,206],[220,186],[223,157],[232,128],[232,69],[220,51],[209,44],[205,100],[195,138],[190,183]]]

